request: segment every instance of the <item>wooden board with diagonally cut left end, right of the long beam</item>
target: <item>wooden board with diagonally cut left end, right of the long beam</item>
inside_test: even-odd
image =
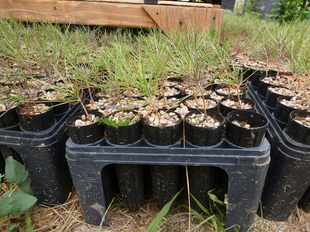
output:
[[[197,31],[210,28],[221,31],[223,9],[186,6],[142,5],[162,30],[169,34],[172,30],[196,28]]]

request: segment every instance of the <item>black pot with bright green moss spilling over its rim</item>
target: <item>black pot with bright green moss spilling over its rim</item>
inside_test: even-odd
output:
[[[130,110],[126,110],[126,112],[130,112]],[[134,114],[138,115],[137,112],[131,111]],[[109,116],[115,113],[109,114]],[[142,118],[140,118],[136,123],[121,126],[121,127],[113,127],[109,125],[105,125],[105,131],[107,132],[107,137],[110,143],[115,145],[128,145],[133,144],[140,140],[142,134]]]

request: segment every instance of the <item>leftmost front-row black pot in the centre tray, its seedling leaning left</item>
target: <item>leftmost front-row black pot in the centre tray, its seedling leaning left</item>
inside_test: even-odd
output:
[[[96,117],[103,117],[103,114],[99,111],[88,111],[88,114],[94,114]],[[66,120],[71,140],[75,144],[93,144],[103,139],[104,125],[99,122],[92,123],[90,125],[76,127],[72,126],[72,122],[81,119],[85,112],[73,114]]]

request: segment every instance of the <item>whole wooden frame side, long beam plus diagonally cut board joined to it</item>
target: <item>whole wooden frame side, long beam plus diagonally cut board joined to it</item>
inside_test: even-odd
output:
[[[6,19],[66,24],[135,28],[160,25],[167,34],[172,29],[195,26],[197,30],[215,28],[220,32],[223,18],[223,10],[214,8],[72,0],[0,0],[0,14]]]

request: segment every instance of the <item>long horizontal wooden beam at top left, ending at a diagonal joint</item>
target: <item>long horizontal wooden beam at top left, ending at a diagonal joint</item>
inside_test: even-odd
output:
[[[148,28],[157,27],[141,4],[70,0],[0,0],[0,15],[17,20]]]

